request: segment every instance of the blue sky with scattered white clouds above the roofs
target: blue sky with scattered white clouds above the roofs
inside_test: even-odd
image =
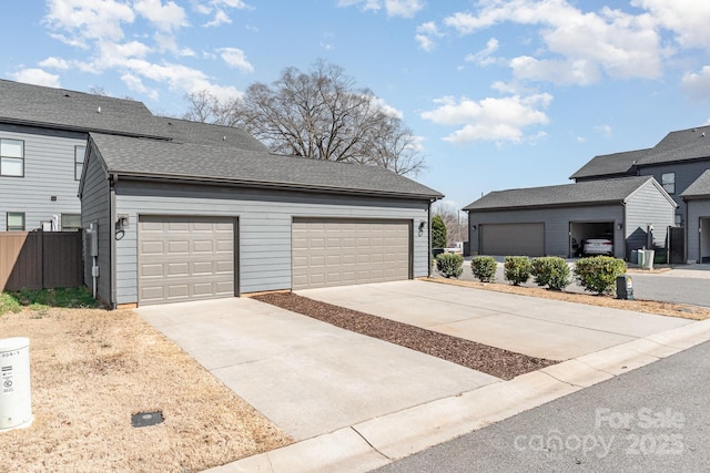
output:
[[[555,185],[598,154],[710,123],[698,0],[3,1],[0,76],[144,102],[227,97],[318,59],[419,137],[417,179],[460,208]]]

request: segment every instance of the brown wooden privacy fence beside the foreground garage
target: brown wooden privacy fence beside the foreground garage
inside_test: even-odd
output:
[[[81,232],[0,232],[0,291],[83,285]]]

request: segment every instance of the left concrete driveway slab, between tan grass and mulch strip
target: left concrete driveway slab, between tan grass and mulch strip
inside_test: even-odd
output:
[[[135,311],[296,440],[500,381],[247,298]]]

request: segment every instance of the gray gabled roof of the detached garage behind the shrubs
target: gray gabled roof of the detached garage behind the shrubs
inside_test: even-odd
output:
[[[558,186],[497,191],[468,204],[464,210],[503,210],[550,206],[585,206],[626,202],[641,186],[653,185],[666,194],[651,176],[588,181]],[[667,195],[669,202],[672,198]],[[673,203],[673,205],[676,205]]]

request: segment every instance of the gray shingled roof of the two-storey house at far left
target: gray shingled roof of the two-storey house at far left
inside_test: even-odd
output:
[[[0,122],[70,131],[168,137],[133,100],[0,80]]]

